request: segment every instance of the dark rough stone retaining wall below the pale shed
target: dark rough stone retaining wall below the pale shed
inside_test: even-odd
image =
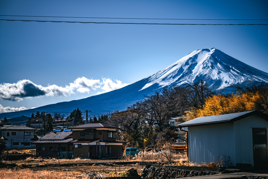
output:
[[[146,163],[142,171],[143,179],[182,178],[203,175],[214,175],[219,173],[218,167],[188,167],[172,165],[151,165]]]

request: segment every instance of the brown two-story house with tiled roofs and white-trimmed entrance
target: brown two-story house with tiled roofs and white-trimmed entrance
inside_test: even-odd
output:
[[[123,155],[124,141],[116,140],[118,127],[102,124],[88,123],[72,126],[74,157],[81,158],[109,158]]]

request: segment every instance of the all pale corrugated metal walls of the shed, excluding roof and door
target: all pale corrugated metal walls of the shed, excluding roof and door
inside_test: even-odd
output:
[[[267,127],[267,121],[256,115],[233,123],[188,127],[189,160],[208,164],[225,155],[229,165],[254,166],[252,128],[266,128],[268,133]],[[222,160],[227,161],[225,157]]]

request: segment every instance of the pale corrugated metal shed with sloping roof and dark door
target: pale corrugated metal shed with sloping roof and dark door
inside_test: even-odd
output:
[[[189,160],[225,165],[267,166],[268,115],[259,111],[204,116],[179,124],[188,127]],[[229,161],[228,161],[229,160]]]

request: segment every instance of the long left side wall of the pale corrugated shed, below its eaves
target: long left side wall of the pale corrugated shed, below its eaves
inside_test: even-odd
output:
[[[209,164],[226,155],[235,163],[233,123],[188,127],[188,131],[190,161]]]

